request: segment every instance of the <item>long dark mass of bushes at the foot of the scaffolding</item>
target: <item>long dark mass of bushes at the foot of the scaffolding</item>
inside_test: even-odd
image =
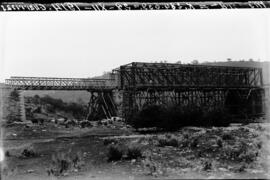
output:
[[[129,123],[135,128],[174,131],[184,126],[227,126],[231,116],[223,109],[152,105],[135,113]]]

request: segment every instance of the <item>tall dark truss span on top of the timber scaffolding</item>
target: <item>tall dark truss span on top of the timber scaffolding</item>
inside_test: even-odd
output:
[[[262,86],[261,68],[134,62],[118,71],[122,89]]]

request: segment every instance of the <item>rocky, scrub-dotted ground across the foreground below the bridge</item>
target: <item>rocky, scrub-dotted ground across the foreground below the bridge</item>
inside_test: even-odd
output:
[[[6,127],[2,178],[269,178],[267,124],[143,135],[114,126]]]

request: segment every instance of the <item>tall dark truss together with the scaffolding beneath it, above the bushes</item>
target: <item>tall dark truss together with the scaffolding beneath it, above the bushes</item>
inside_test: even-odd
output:
[[[261,68],[133,62],[115,71],[126,119],[149,105],[226,108],[245,116],[263,113]]]

